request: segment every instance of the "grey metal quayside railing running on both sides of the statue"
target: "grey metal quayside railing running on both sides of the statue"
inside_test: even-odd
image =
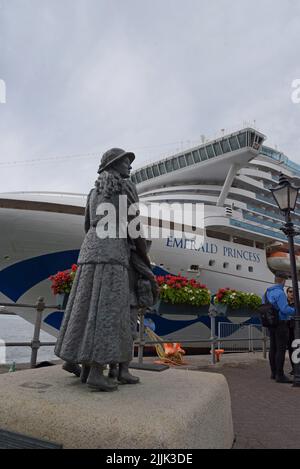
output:
[[[33,332],[33,337],[31,342],[5,342],[6,347],[30,347],[31,348],[31,359],[30,359],[30,367],[35,368],[37,365],[37,357],[38,357],[38,351],[40,347],[45,347],[45,346],[55,346],[56,342],[41,342],[40,341],[40,333],[41,333],[41,325],[42,325],[42,319],[43,319],[43,312],[46,309],[55,309],[59,311],[63,311],[63,308],[58,305],[46,305],[44,298],[39,297],[37,302],[32,305],[32,304],[22,304],[22,303],[0,303],[0,307],[8,307],[8,308],[34,308],[36,310],[36,318],[35,318],[35,323],[34,323],[34,332]],[[146,346],[155,346],[157,344],[167,344],[170,342],[175,342],[174,339],[160,339],[160,340],[145,340],[145,326],[144,326],[144,315],[146,313],[145,309],[140,309],[139,310],[139,336],[135,340],[134,345],[138,347],[138,364],[139,366],[143,365],[143,360],[144,360],[144,349]],[[211,352],[211,363],[215,364],[216,363],[216,353],[215,351],[218,349],[218,344],[220,342],[226,343],[226,342],[238,342],[238,341],[244,341],[245,338],[223,338],[220,337],[219,335],[215,334],[215,316],[209,315],[210,316],[210,337],[206,339],[183,339],[181,340],[180,338],[176,339],[176,342],[180,342],[180,344],[203,344],[203,343],[208,343],[210,344],[210,352]],[[267,357],[267,334],[266,334],[266,329],[263,328],[263,334],[261,338],[253,338],[252,341],[259,341],[262,343],[262,351],[263,351],[263,357]],[[249,348],[249,352],[253,351],[253,347],[251,350],[251,347]]]

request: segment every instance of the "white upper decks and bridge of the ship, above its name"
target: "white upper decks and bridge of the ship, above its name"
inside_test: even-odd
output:
[[[132,179],[144,203],[204,204],[205,226],[215,233],[284,242],[283,216],[270,186],[281,172],[300,186],[300,166],[263,146],[264,140],[262,133],[245,128],[144,166]],[[300,201],[294,222],[300,227]]]

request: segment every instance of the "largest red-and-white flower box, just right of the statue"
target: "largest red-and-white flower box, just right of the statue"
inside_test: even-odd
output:
[[[188,279],[180,274],[157,276],[159,297],[162,301],[172,304],[189,304],[205,306],[210,304],[210,291],[206,285],[195,279]]]

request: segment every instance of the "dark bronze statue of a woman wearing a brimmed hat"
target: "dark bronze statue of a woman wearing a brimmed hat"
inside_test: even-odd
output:
[[[155,279],[145,250],[145,240],[132,240],[124,233],[126,216],[119,217],[120,196],[138,199],[128,179],[135,155],[120,148],[104,153],[95,187],[88,195],[85,212],[86,236],[78,258],[78,269],[66,307],[55,353],[71,364],[82,365],[82,381],[101,391],[113,391],[118,382],[135,384],[129,373],[133,353],[132,290],[129,280],[132,251],[139,256],[155,291]],[[99,236],[103,221],[101,204],[112,204],[116,213],[116,235]],[[103,205],[102,205],[103,207]],[[100,214],[99,214],[100,213]],[[105,214],[106,215],[106,214]],[[121,228],[121,229],[120,229]],[[134,307],[132,307],[134,306]],[[103,371],[110,365],[110,373]],[[118,367],[118,368],[117,368]],[[117,371],[116,371],[117,370]]]

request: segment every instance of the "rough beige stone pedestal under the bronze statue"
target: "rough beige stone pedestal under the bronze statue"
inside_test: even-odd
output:
[[[220,374],[134,371],[137,385],[93,392],[60,366],[0,376],[0,428],[64,448],[230,448],[231,402]]]

